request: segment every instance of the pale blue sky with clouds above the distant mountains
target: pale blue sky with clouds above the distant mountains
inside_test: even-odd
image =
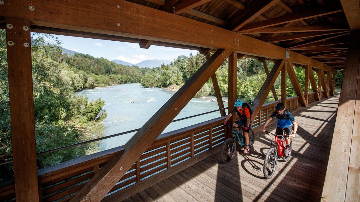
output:
[[[62,47],[89,54],[95,58],[106,58],[108,60],[122,60],[136,64],[143,60],[174,60],[179,55],[189,56],[190,53],[197,54],[198,51],[177,49],[163,46],[150,46],[149,49],[141,49],[138,43],[127,43],[118,41],[107,41],[91,38],[80,38],[70,36],[54,35],[63,42]]]

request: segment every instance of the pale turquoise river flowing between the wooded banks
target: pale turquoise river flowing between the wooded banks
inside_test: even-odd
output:
[[[105,101],[103,108],[106,110],[108,116],[103,121],[105,126],[104,136],[109,136],[141,128],[174,93],[174,91],[168,91],[162,88],[144,88],[140,83],[130,83],[106,88],[87,89],[76,92],[76,95],[86,95],[89,101],[98,98]],[[216,97],[193,98],[175,119],[219,109],[217,102],[208,101],[210,99],[216,100]],[[227,100],[227,98],[223,99]],[[227,107],[228,103],[224,102],[224,106]],[[162,133],[201,123],[219,116],[220,112],[216,111],[210,114],[177,121],[168,125]],[[135,132],[104,139],[101,142],[100,151],[124,145],[134,134]]]

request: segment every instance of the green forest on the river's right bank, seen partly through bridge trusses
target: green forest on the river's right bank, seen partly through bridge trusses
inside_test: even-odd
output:
[[[190,55],[190,56],[179,56],[177,59],[172,61],[170,65],[162,65],[161,67],[154,68],[151,72],[148,72],[141,79],[141,85],[144,87],[167,87],[175,85],[175,88],[180,88],[206,61],[204,55]],[[267,62],[269,71],[273,68],[274,63]],[[295,73],[300,82],[301,88],[305,89],[305,70],[303,68],[294,68]],[[314,77],[318,82],[318,76],[315,72]],[[217,81],[222,96],[228,96],[228,61],[216,71]],[[262,84],[266,79],[266,73],[264,66],[261,62],[255,59],[242,58],[238,60],[238,84],[237,92],[238,98],[244,102],[253,101],[257,95],[257,92],[261,88]],[[276,95],[280,95],[281,88],[281,73],[275,81],[274,87]],[[342,75],[337,75],[337,85],[341,86]],[[310,82],[309,82],[310,85]],[[309,86],[309,89],[310,86]],[[205,97],[208,95],[214,95],[214,88],[211,79],[199,90],[196,97]],[[292,83],[287,75],[287,96],[296,95]],[[266,102],[274,101],[272,92],[269,93],[269,99]]]

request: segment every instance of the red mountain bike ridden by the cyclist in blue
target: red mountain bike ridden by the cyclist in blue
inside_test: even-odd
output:
[[[267,151],[264,160],[264,176],[266,179],[270,179],[275,173],[275,168],[278,163],[278,156],[282,157],[284,162],[289,161],[292,152],[292,139],[290,139],[290,151],[288,155],[285,155],[285,147],[287,146],[285,139],[288,135],[280,136],[267,131],[265,131],[265,133],[269,136],[270,134],[275,136],[274,141],[271,141],[270,149]]]

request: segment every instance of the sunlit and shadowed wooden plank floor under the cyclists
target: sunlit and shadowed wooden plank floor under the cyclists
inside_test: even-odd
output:
[[[239,151],[223,164],[216,153],[124,201],[320,201],[338,100],[323,98],[293,113],[299,128],[292,157],[279,160],[269,180],[262,167],[271,138],[259,131],[249,154]]]

